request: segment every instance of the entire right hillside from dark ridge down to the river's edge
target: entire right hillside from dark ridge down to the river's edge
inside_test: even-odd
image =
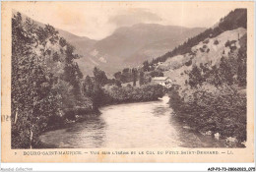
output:
[[[226,147],[246,146],[246,26],[246,10],[236,9],[146,68],[172,80],[169,106],[188,130]]]

